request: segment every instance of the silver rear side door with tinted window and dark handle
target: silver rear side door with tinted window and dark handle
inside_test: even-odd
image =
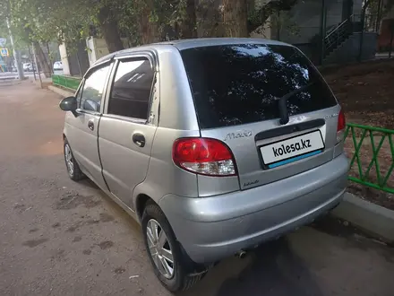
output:
[[[103,175],[111,193],[133,208],[133,188],[147,174],[156,122],[150,116],[157,83],[150,55],[118,58],[99,126]]]

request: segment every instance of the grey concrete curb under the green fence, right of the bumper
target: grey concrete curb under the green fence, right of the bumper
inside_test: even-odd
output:
[[[369,232],[377,239],[394,243],[394,211],[346,193],[344,201],[332,214]]]

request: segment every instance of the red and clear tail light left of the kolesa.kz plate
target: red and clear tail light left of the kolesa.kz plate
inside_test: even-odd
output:
[[[177,166],[196,174],[236,176],[236,161],[226,144],[207,138],[181,138],[173,146]]]

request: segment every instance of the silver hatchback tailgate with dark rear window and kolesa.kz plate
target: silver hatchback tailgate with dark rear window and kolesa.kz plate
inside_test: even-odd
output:
[[[184,49],[181,55],[201,136],[228,145],[236,159],[241,189],[332,160],[340,108],[321,75],[298,49],[230,44]],[[288,98],[290,121],[281,125],[278,100],[305,85],[304,91]]]

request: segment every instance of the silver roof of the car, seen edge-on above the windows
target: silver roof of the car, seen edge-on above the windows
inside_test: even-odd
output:
[[[160,51],[165,48],[174,48],[177,50],[184,50],[188,48],[201,48],[201,47],[211,47],[211,46],[219,46],[219,45],[235,45],[235,44],[267,44],[267,45],[282,45],[282,46],[291,46],[287,43],[280,42],[272,39],[257,39],[257,38],[200,38],[200,39],[180,39],[180,40],[172,40],[172,41],[164,41],[158,43],[152,43],[148,45],[143,45],[135,48],[127,48],[124,50],[116,51],[111,53],[105,57],[99,58],[94,65],[98,65],[101,63],[110,60],[113,57],[126,56],[128,54],[132,54],[136,51],[144,51],[144,50],[155,50]],[[94,66],[92,65],[92,66]]]

